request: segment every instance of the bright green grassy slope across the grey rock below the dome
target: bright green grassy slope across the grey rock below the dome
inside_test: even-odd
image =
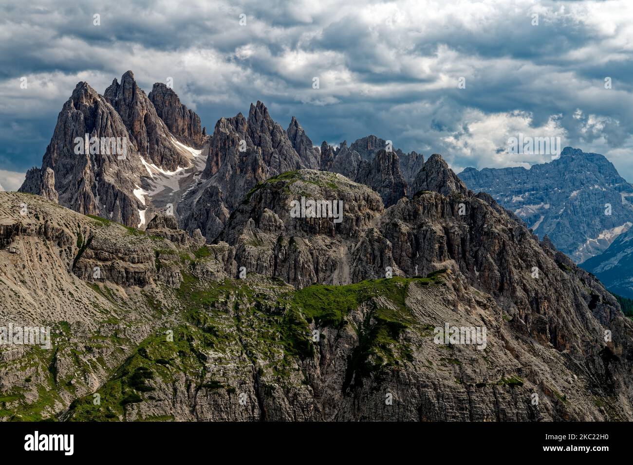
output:
[[[173,342],[164,334],[144,340],[97,390],[101,405],[95,405],[92,394],[77,399],[70,407],[70,418],[125,419],[125,404],[153,400],[151,380],[158,377],[169,382],[175,373],[184,373],[195,383],[196,389],[235,392],[231,380],[209,378],[204,363],[204,350],[223,352],[237,344],[232,325],[241,335],[240,343],[246,340],[249,352],[259,354],[260,361],[274,359],[275,350],[283,351],[282,361],[265,367],[283,384],[293,357],[304,359],[315,355],[318,343],[312,340],[310,322],[320,329],[341,328],[349,324],[346,320],[349,313],[365,304],[369,306],[369,313],[363,325],[355,328],[360,345],[348,361],[344,388],[362,384],[363,378],[380,375],[381,369],[399,366],[408,358],[408,348],[399,342],[402,330],[413,323],[404,304],[408,285],[411,282],[432,285],[440,280],[440,275],[396,277],[346,286],[312,285],[298,291],[270,280],[267,292],[262,293],[241,280],[201,283],[194,275],[185,275],[176,292],[182,303],[184,321],[174,331]],[[377,296],[385,297],[392,306],[377,306],[372,299]],[[222,306],[233,307],[237,316],[229,318]],[[256,325],[256,334],[249,338],[249,328],[253,325]]]

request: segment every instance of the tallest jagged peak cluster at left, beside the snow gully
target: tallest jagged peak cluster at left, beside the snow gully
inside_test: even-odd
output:
[[[202,164],[187,144],[201,140],[199,118],[180,104],[172,90],[157,89],[165,91],[163,99],[156,92],[156,101],[178,134],[172,134],[158,116],[132,71],[123,74],[120,82],[114,79],[103,96],[79,82],[60,111],[41,168],[28,171],[22,192],[42,195],[80,213],[144,226],[145,214],[153,212],[149,193],[161,192],[163,204],[173,202],[168,192],[180,187],[180,180],[172,178],[175,172],[198,170]],[[166,187],[172,189],[163,194]]]

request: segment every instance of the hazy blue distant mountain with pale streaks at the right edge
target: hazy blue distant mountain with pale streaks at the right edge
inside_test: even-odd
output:
[[[580,263],[633,223],[626,182],[604,156],[565,147],[559,159],[525,168],[467,168],[468,189],[491,194],[543,238]]]

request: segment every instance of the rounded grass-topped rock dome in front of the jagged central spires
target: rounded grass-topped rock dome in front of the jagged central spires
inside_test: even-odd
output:
[[[296,206],[293,210],[293,202],[310,201],[325,201],[327,209],[315,211],[315,218],[302,217],[310,212],[301,213]],[[348,284],[356,243],[382,210],[376,192],[341,175],[315,170],[285,173],[253,189],[218,241],[234,246],[237,265],[249,272],[296,287]],[[372,271],[363,278],[380,275],[380,270]]]

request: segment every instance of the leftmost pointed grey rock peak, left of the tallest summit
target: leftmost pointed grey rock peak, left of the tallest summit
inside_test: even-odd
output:
[[[132,192],[142,167],[135,140],[128,136],[107,99],[78,83],[58,115],[42,167],[28,171],[20,191],[137,225],[139,206]]]

